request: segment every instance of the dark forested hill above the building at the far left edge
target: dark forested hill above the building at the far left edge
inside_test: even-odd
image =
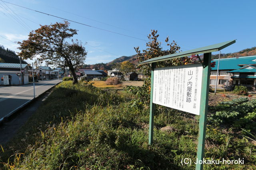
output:
[[[20,63],[19,57],[15,51],[4,49],[3,45],[0,45],[0,63]],[[22,60],[22,64],[28,64]]]

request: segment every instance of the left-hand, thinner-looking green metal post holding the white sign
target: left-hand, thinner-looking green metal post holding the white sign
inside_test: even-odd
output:
[[[153,143],[153,133],[154,133],[154,111],[155,111],[155,104],[153,104],[154,68],[156,68],[156,63],[151,64],[150,115],[149,115],[149,132],[148,132],[149,145]]]

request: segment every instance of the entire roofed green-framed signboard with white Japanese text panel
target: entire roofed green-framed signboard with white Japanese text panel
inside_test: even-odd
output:
[[[155,104],[171,107],[199,115],[197,158],[204,158],[206,117],[208,114],[208,94],[212,52],[220,51],[236,40],[209,45],[198,49],[156,57],[140,64],[151,63],[150,120],[148,143],[153,143]],[[156,62],[203,54],[203,63],[156,68]],[[196,164],[202,170],[203,164]]]

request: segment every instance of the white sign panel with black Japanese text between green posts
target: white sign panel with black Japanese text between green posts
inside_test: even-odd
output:
[[[154,69],[153,103],[199,115],[202,64]]]

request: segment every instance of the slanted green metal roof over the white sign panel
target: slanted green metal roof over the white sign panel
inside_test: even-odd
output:
[[[228,47],[229,45],[234,44],[235,42],[236,42],[236,40],[231,40],[231,41],[226,41],[223,43],[209,45],[206,47],[201,47],[201,48],[197,48],[197,49],[193,49],[193,50],[182,51],[180,53],[156,57],[153,59],[148,59],[146,61],[142,61],[142,62],[138,63],[138,65],[155,63],[158,61],[165,61],[165,60],[170,60],[170,59],[176,59],[176,58],[186,57],[186,56],[190,56],[190,55],[197,55],[197,54],[202,54],[202,53],[210,53],[210,52],[214,52],[214,51],[220,51],[221,49],[224,49],[224,48]]]

